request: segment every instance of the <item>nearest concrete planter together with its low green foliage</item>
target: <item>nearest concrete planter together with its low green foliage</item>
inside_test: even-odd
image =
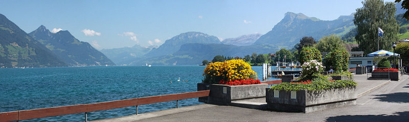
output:
[[[328,80],[281,83],[266,89],[270,110],[309,113],[356,104],[356,82]]]

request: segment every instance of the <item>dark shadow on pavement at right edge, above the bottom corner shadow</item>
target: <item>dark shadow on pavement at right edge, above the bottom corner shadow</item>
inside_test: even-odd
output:
[[[378,99],[382,102],[390,102],[390,103],[409,103],[409,93],[407,92],[396,92],[396,93],[389,93],[389,94],[379,94],[375,95],[374,99]]]

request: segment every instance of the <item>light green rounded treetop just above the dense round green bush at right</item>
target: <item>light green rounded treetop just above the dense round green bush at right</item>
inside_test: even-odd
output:
[[[336,36],[335,34],[324,36],[318,41],[315,45],[315,48],[320,52],[332,52],[335,50],[346,50],[344,41],[341,40],[341,37]]]

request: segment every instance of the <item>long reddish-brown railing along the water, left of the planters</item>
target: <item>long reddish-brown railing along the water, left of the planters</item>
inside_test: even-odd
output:
[[[210,93],[210,90],[203,90],[203,91],[195,91],[195,92],[140,97],[140,98],[134,98],[134,99],[109,101],[109,102],[102,102],[102,103],[79,104],[79,105],[72,105],[72,106],[60,106],[60,107],[51,107],[51,108],[40,108],[40,109],[31,109],[31,110],[3,112],[3,113],[0,113],[0,122],[19,121],[19,120],[59,116],[59,115],[67,115],[67,114],[75,114],[75,113],[84,113],[85,121],[87,121],[88,112],[124,108],[124,107],[130,107],[130,106],[135,106],[136,114],[138,114],[138,105],[176,101],[176,108],[178,108],[179,100],[191,99],[191,98],[202,97],[202,96],[209,96],[209,93]]]

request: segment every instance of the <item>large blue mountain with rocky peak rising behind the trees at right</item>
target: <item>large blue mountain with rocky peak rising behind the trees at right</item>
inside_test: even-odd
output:
[[[342,36],[353,28],[355,28],[353,14],[328,21],[308,17],[302,13],[287,12],[271,31],[261,36],[254,44],[272,44],[289,48],[304,36],[312,36],[315,39],[330,34]]]

